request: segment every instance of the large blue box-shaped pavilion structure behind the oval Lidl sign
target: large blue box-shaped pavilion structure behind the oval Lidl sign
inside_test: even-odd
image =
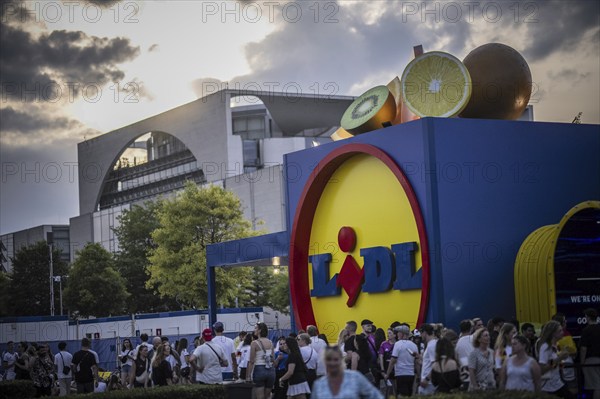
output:
[[[475,316],[514,317],[513,270],[523,240],[574,205],[600,199],[598,125],[425,118],[291,153],[284,164],[288,231],[209,247],[211,322],[214,267],[268,265],[273,256],[288,256],[312,168],[349,143],[382,149],[410,181],[429,241],[426,320],[450,327]]]

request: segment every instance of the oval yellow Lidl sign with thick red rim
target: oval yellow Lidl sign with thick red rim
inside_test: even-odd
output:
[[[349,320],[424,321],[425,224],[412,186],[381,149],[347,144],[311,174],[292,226],[290,291],[298,326],[316,324],[334,340]]]

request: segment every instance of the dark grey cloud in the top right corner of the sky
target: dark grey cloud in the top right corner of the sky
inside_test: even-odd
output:
[[[591,34],[598,53],[600,3],[593,0],[537,1],[529,12],[537,22],[529,24],[531,38],[524,54],[531,61],[542,60],[554,52],[574,52],[583,37]]]

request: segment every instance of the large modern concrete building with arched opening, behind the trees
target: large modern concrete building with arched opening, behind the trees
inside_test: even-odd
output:
[[[330,141],[353,100],[226,89],[79,143],[71,259],[87,242],[117,252],[118,216],[187,180],[233,191],[255,227],[284,230],[283,155]]]

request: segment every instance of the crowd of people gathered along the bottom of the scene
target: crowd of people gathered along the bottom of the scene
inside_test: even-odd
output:
[[[155,337],[149,343],[142,334],[135,347],[124,339],[119,370],[106,379],[87,338],[74,354],[61,342],[55,355],[47,344],[21,342],[15,350],[9,342],[2,365],[4,379],[31,379],[38,397],[246,381],[257,399],[375,399],[491,389],[575,398],[581,368],[585,389],[600,399],[598,313],[588,309],[585,316],[579,346],[562,314],[545,323],[539,337],[532,324],[500,317],[487,325],[479,318],[463,320],[459,333],[429,323],[413,330],[394,322],[384,330],[368,319],[359,332],[359,324],[348,321],[332,344],[316,326],[272,342],[264,323],[233,340],[217,322],[194,339],[193,349],[185,338],[172,344]]]

